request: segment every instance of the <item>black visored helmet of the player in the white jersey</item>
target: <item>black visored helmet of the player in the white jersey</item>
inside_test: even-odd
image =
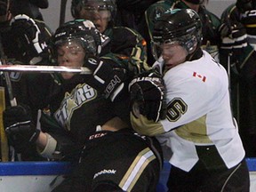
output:
[[[174,9],[164,12],[153,29],[153,54],[155,59],[160,56],[161,50],[157,44],[178,42],[188,54],[196,51],[202,42],[202,22],[198,14],[192,9]]]

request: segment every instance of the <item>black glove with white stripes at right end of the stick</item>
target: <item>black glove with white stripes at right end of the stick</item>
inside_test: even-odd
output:
[[[88,56],[84,67],[92,70],[92,76],[85,77],[86,83],[102,92],[107,99],[114,101],[120,92],[124,91],[127,71],[116,61]]]

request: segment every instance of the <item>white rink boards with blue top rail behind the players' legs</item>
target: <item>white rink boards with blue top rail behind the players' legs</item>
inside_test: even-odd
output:
[[[256,191],[256,158],[246,159],[251,180],[251,192]],[[164,162],[164,170],[157,192],[165,192],[165,182],[171,165]],[[65,162],[13,162],[0,163],[0,191],[3,192],[50,192],[70,172]]]

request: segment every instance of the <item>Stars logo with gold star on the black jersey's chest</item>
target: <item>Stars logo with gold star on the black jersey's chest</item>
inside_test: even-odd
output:
[[[77,108],[81,108],[84,103],[94,100],[97,92],[88,84],[78,84],[73,92],[66,92],[65,98],[62,100],[60,108],[55,112],[55,119],[70,130],[70,119],[73,112]]]

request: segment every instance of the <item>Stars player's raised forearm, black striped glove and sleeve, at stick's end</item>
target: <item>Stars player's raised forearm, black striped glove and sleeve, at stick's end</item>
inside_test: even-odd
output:
[[[92,70],[92,75],[84,76],[84,82],[111,101],[127,95],[132,77],[145,70],[136,62],[133,63],[132,59],[112,53],[101,58],[88,56],[84,67]]]

